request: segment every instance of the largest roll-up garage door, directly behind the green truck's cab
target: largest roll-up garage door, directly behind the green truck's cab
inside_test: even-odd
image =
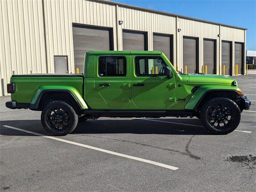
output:
[[[84,72],[84,54],[87,51],[112,50],[111,31],[108,28],[73,25],[75,69]]]

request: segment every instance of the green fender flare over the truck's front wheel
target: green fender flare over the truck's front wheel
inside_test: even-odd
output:
[[[186,110],[195,110],[197,106],[200,104],[200,102],[204,99],[206,94],[209,92],[215,92],[215,91],[232,91],[236,93],[238,96],[241,96],[238,94],[238,90],[240,90],[237,86],[219,86],[219,85],[213,85],[213,86],[200,86],[190,97],[188,102],[186,103],[186,106],[184,109]]]

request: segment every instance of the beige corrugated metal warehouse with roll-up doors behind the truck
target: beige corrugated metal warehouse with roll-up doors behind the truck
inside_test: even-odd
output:
[[[14,74],[75,73],[89,50],[160,50],[188,73],[244,73],[246,29],[106,0],[1,0],[0,96]]]

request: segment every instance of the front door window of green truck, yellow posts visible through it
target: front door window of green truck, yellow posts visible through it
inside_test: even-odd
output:
[[[136,57],[136,76],[164,76],[164,60],[161,57]]]

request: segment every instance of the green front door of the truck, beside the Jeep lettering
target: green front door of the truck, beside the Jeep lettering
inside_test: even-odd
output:
[[[164,75],[166,58],[132,56],[131,97],[137,107],[165,110],[175,105],[175,77]]]

